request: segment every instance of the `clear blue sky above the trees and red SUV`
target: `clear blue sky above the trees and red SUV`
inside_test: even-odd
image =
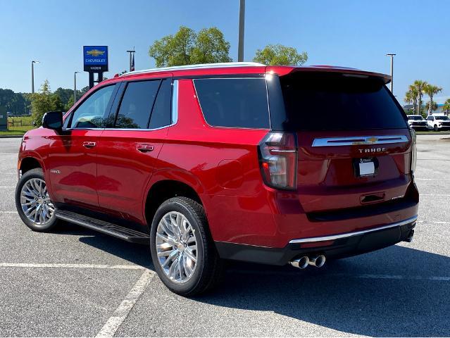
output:
[[[83,45],[108,45],[110,72],[127,69],[126,50],[135,46],[136,69],[151,68],[149,45],[180,25],[199,30],[215,26],[237,58],[239,0],[227,1],[25,1],[0,5],[0,88],[30,92],[30,61],[35,87],[73,88],[82,70]],[[308,52],[307,65],[343,65],[389,73],[393,52],[394,94],[404,97],[413,80],[443,87],[450,97],[450,1],[414,0],[247,0],[245,53],[251,61],[266,44],[286,44]],[[78,87],[88,83],[77,75]]]

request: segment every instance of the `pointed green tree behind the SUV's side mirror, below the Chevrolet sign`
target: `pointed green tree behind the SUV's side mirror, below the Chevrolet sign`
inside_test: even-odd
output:
[[[47,111],[62,111],[64,106],[57,94],[50,91],[49,81],[45,80],[39,92],[32,94],[32,119],[37,127],[42,125],[42,117]]]

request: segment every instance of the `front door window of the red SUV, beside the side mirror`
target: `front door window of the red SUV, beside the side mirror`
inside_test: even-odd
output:
[[[102,87],[91,94],[76,111],[73,112],[70,119],[72,128],[101,128],[104,127],[108,117],[108,107],[113,99],[112,94],[115,84]]]

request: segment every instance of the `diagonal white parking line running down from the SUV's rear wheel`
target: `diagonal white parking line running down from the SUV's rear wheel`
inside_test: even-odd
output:
[[[149,284],[154,276],[155,273],[151,270],[145,270],[144,273],[142,273],[135,286],[132,287],[122,303],[115,309],[111,318],[108,319],[96,337],[114,337],[115,332],[127,318],[127,315],[130,313],[133,306],[135,306],[135,303],[144,292],[147,284]]]

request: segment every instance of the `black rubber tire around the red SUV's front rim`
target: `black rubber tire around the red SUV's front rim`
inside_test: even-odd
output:
[[[17,208],[17,212],[20,218],[23,220],[23,223],[25,223],[25,225],[27,225],[27,227],[29,227],[31,230],[37,232],[49,232],[51,230],[54,230],[54,228],[59,223],[59,220],[55,217],[55,214],[53,214],[53,216],[45,224],[39,225],[27,218],[20,204],[20,192],[22,191],[22,188],[25,185],[25,183],[33,178],[38,178],[45,182],[44,173],[42,172],[41,168],[28,170],[26,173],[22,175],[22,177],[20,177],[20,180],[17,183],[17,186],[15,187],[15,208]]]

